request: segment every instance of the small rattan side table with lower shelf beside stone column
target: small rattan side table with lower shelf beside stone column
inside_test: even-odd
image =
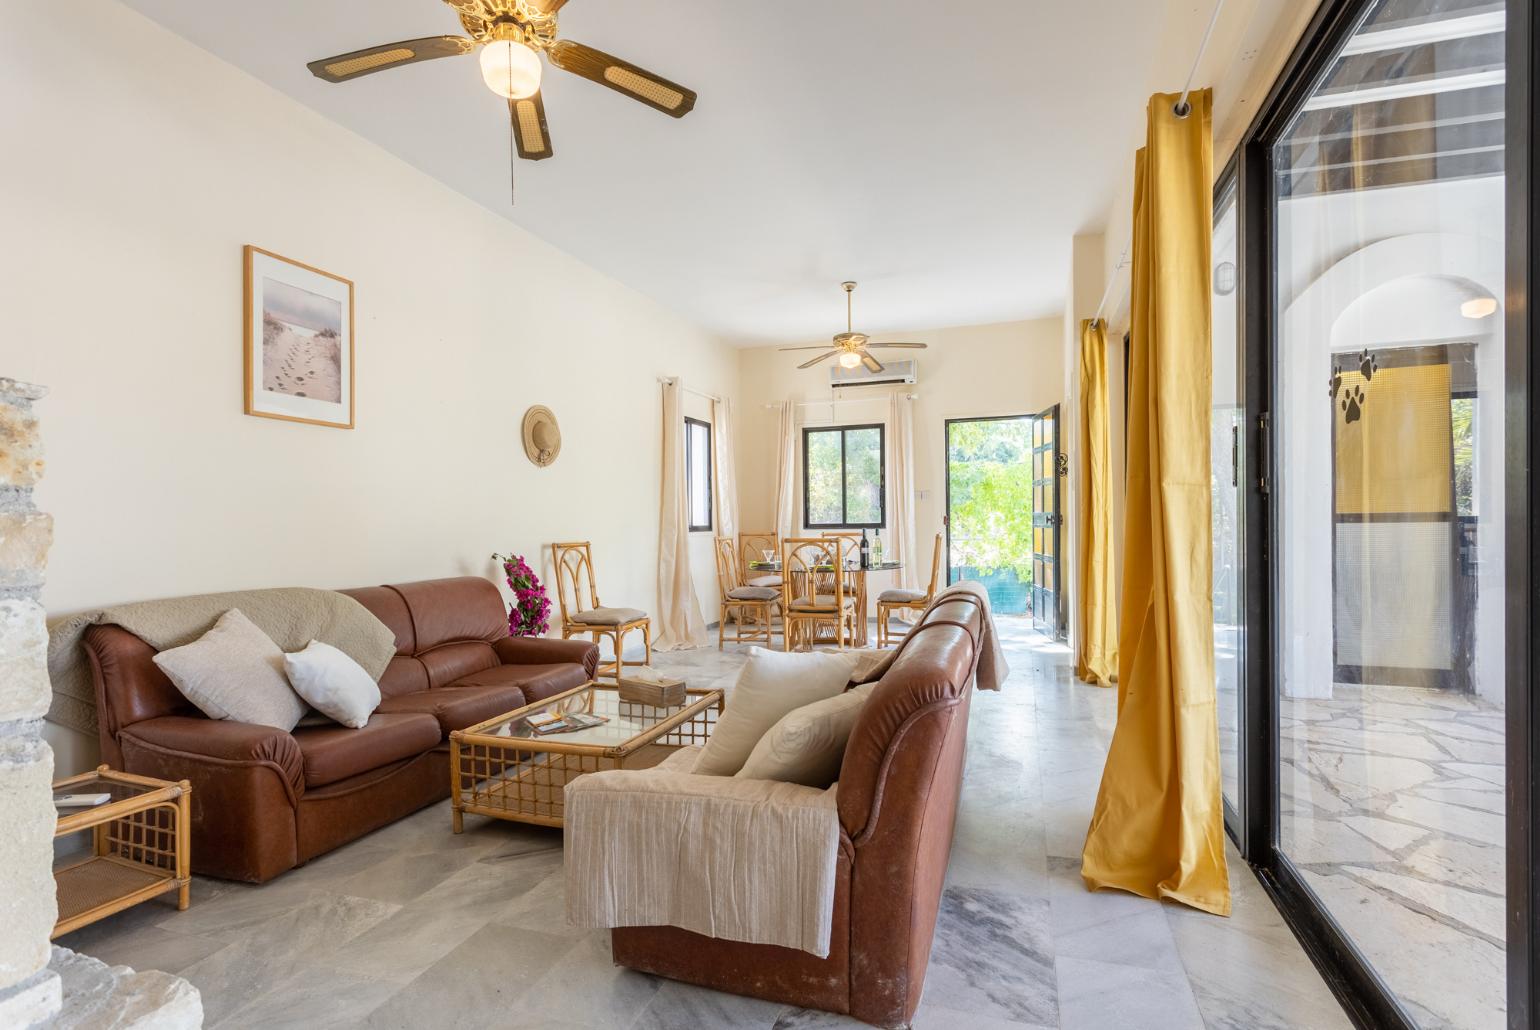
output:
[[[132,776],[99,765],[54,784],[55,794],[112,794],[92,808],[71,808],[59,816],[54,838],[91,831],[91,853],[72,856],[54,868],[59,888],[59,922],[52,936],[79,930],[171,890],[177,908],[186,908],[192,878],[188,874],[188,781]]]

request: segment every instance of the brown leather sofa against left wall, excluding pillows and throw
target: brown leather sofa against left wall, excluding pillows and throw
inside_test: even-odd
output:
[[[116,625],[86,633],[102,761],[192,782],[194,871],[260,884],[442,801],[450,731],[579,687],[599,662],[585,640],[510,637],[502,594],[485,579],[342,593],[396,634],[380,707],[359,730],[208,719],[137,636]]]

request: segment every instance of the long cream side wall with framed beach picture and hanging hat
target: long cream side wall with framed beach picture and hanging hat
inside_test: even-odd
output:
[[[51,613],[493,577],[556,539],[656,605],[656,377],[732,396],[736,351],[117,3],[68,32],[6,5],[0,95],[0,374],[52,390]],[[357,283],[356,430],[242,414],[243,243]],[[62,773],[92,761],[54,737]]]

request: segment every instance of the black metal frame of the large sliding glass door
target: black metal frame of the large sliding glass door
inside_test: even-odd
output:
[[[1238,188],[1240,257],[1238,320],[1246,423],[1243,442],[1247,490],[1243,528],[1246,682],[1241,690],[1243,818],[1232,825],[1237,847],[1257,871],[1306,953],[1360,1027],[1412,1027],[1409,1013],[1378,978],[1368,959],[1341,931],[1304,885],[1278,841],[1278,707],[1275,699],[1277,647],[1274,604],[1280,588],[1272,556],[1278,554],[1272,483],[1278,474],[1272,451],[1274,362],[1277,323],[1274,276],[1277,225],[1270,199],[1270,142],[1326,71],[1337,46],[1352,32],[1374,0],[1321,0],[1309,28],[1258,109],[1232,159]],[[1531,402],[1540,363],[1531,362],[1537,345],[1528,300],[1540,288],[1540,232],[1531,191],[1535,188],[1540,103],[1534,95],[1534,60],[1540,51],[1529,0],[1506,0],[1506,910],[1508,910],[1508,1025],[1535,1025],[1537,953],[1540,938],[1540,818],[1535,804],[1535,756],[1540,727],[1532,719],[1537,690],[1531,640],[1540,637],[1540,616],[1531,604],[1540,584],[1531,537],[1540,533],[1540,491],[1529,476],[1540,411]]]

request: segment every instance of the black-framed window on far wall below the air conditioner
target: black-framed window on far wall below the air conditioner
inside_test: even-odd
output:
[[[802,430],[802,511],[808,530],[879,530],[882,499],[881,425]]]

